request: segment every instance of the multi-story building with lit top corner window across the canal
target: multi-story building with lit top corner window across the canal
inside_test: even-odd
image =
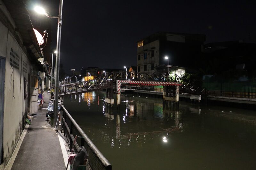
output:
[[[168,71],[165,56],[170,66],[191,67],[201,54],[204,41],[205,35],[201,34],[157,32],[149,35],[137,41],[137,71]]]

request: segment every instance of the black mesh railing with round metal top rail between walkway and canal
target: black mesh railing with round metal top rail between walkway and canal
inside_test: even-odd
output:
[[[75,152],[79,150],[81,146],[84,146],[88,152],[89,168],[91,170],[112,170],[112,165],[108,160],[103,156],[99,149],[92,143],[89,137],[84,133],[72,116],[68,113],[67,109],[63,107],[62,109],[62,128],[64,134],[67,138],[69,146],[73,146],[74,139],[76,138],[75,143]]]

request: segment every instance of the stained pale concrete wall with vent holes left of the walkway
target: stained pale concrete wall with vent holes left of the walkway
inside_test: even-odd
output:
[[[2,4],[0,9],[15,28],[14,21],[1,0],[0,4]],[[32,67],[28,56],[2,22],[0,22],[0,33],[0,55],[5,58],[3,164],[1,165],[3,167],[10,159],[25,125],[29,101],[24,99],[24,78],[28,81]]]

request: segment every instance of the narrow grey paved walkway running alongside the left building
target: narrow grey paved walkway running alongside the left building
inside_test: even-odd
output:
[[[43,94],[44,107],[48,107],[50,94]],[[46,121],[47,109],[38,110],[20,146],[12,170],[66,169],[60,141],[55,130]]]

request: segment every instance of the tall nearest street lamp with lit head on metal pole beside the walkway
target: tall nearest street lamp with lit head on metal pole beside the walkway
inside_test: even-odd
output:
[[[35,11],[46,15],[48,18],[58,18],[58,31],[57,31],[57,55],[56,55],[56,72],[54,72],[54,105],[53,105],[53,112],[54,112],[54,125],[56,125],[58,119],[58,99],[59,99],[59,77],[60,77],[60,36],[61,36],[61,23],[62,23],[62,4],[63,0],[60,0],[60,7],[59,7],[59,16],[51,16],[46,13],[46,11],[42,7],[35,7]]]

